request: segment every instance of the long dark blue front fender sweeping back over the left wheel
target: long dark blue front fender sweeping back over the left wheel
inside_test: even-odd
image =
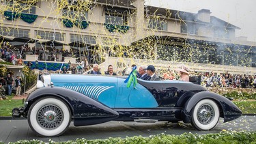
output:
[[[82,93],[62,87],[42,87],[27,98],[24,112],[28,112],[31,104],[40,98],[53,96],[61,98],[70,107],[74,118],[74,126],[101,124],[116,119],[119,114],[108,106],[83,95]]]

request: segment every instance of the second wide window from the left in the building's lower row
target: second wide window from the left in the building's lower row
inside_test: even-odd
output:
[[[54,33],[49,31],[35,31],[35,35],[40,36],[43,40],[65,40],[65,33]]]

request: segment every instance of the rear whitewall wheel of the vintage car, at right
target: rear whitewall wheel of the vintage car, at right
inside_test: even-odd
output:
[[[192,113],[192,126],[198,130],[211,130],[218,124],[220,111],[218,105],[210,99],[199,101]]]

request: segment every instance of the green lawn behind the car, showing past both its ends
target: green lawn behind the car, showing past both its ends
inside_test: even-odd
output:
[[[9,96],[11,99],[13,96]],[[234,101],[242,113],[256,114],[256,101]],[[23,100],[1,100],[0,101],[0,117],[12,116],[12,109],[23,106]]]

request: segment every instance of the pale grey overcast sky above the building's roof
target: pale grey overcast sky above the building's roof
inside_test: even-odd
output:
[[[145,0],[145,5],[193,13],[208,9],[211,16],[240,27],[236,37],[256,42],[256,0]]]

